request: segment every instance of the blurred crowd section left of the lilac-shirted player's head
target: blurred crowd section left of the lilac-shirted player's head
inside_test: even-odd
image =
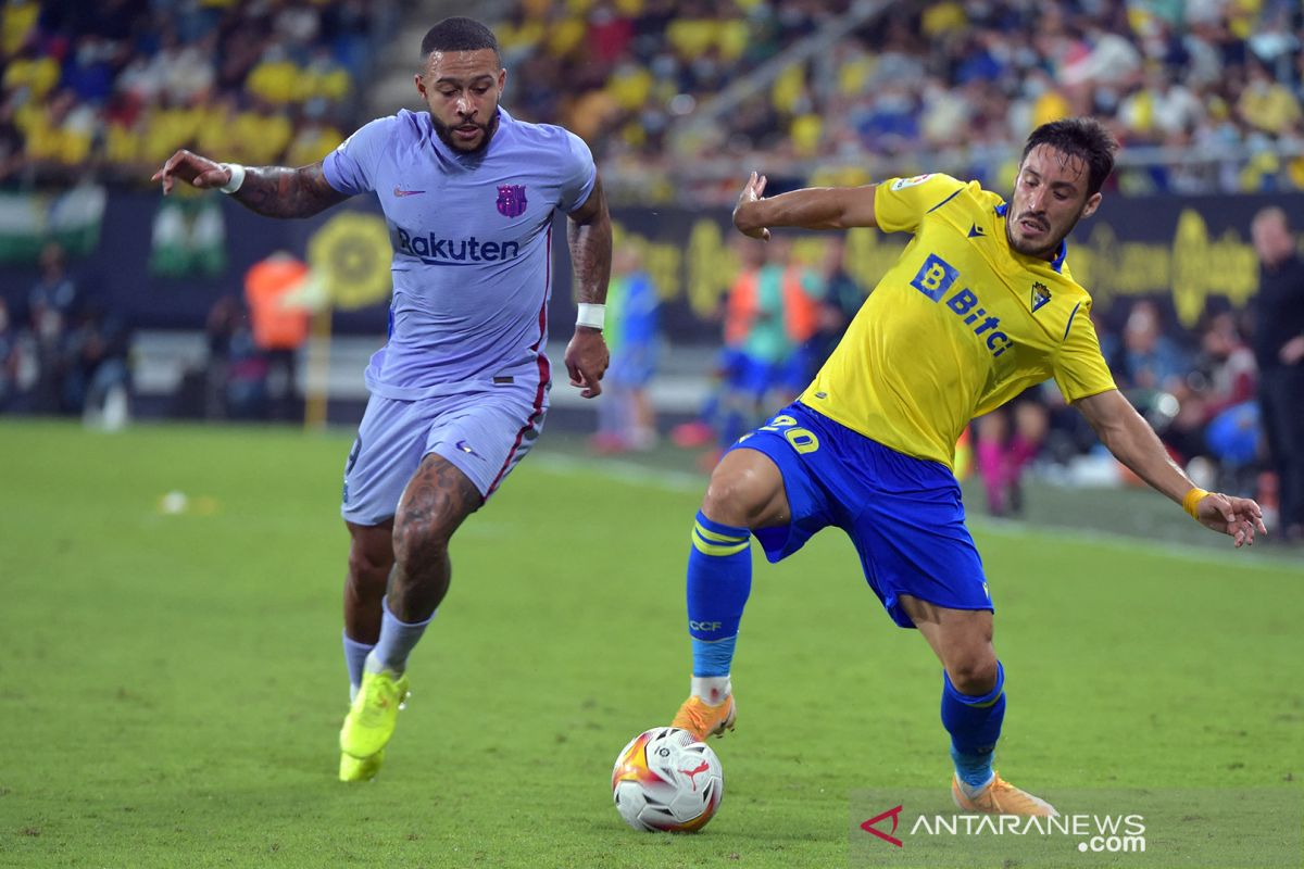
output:
[[[394,26],[382,0],[10,0],[0,184],[142,184],[179,147],[319,160]]]

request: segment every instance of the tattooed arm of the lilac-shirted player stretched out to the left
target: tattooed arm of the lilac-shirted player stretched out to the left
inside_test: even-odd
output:
[[[151,181],[163,182],[163,194],[172,192],[176,178],[193,188],[210,190],[231,181],[231,169],[192,151],[168,158]],[[245,167],[244,182],[231,194],[236,202],[269,218],[310,218],[348,198],[333,188],[322,173],[321,162],[297,169],[284,165]]]

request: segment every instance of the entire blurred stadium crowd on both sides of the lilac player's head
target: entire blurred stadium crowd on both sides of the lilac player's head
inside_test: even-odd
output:
[[[183,145],[319,159],[369,120],[356,96],[395,22],[382,0],[12,0],[0,182],[140,180]],[[520,0],[496,27],[507,104],[610,176],[657,178],[643,198],[709,176],[694,189],[726,197],[759,155],[794,182],[999,180],[1026,130],[1077,113],[1146,155],[1125,190],[1304,189],[1297,0]]]

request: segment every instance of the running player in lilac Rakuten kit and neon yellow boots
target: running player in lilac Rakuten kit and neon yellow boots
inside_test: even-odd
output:
[[[164,194],[180,178],[273,218],[374,193],[390,227],[390,335],[366,369],[372,396],[340,509],[352,537],[342,780],[379,770],[408,693],[408,654],[449,590],[449,539],[542,430],[554,211],[570,218],[580,304],[566,348],[571,384],[597,396],[608,363],[612,224],[588,147],[499,107],[507,73],[477,21],[432,27],[415,78],[429,112],[374,120],[321,163],[253,168],[177,151],[154,176]]]

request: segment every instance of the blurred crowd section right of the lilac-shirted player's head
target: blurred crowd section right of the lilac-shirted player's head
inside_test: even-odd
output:
[[[580,130],[609,171],[746,162],[801,182],[994,181],[1012,177],[1029,129],[1089,113],[1132,155],[1164,149],[1120,173],[1125,189],[1304,189],[1297,0],[867,4],[884,5],[827,42],[854,4],[524,0],[499,31],[527,82],[514,104]],[[803,40],[814,56],[711,113],[725,86]],[[711,124],[694,122],[702,112]]]

